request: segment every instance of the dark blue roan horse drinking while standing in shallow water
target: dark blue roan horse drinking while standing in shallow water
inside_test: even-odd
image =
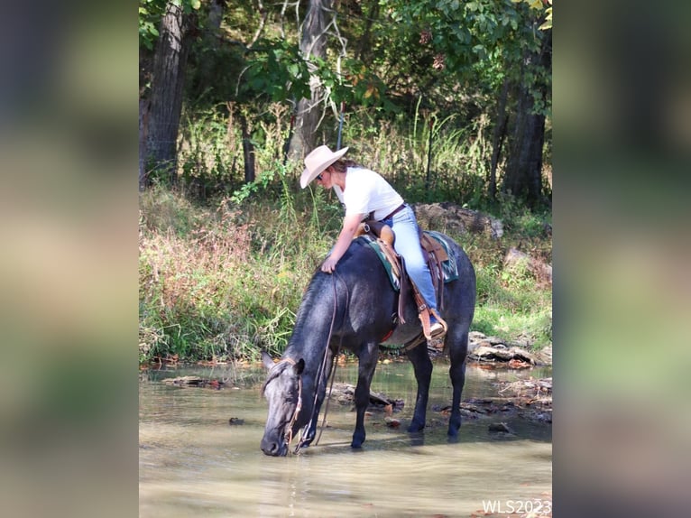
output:
[[[448,236],[449,253],[456,259],[458,278],[444,285],[443,307],[447,321],[445,350],[451,361],[449,375],[454,387],[448,435],[456,438],[461,426],[461,392],[465,383],[465,355],[468,328],[473,320],[475,273],[465,252]],[[405,324],[394,321],[397,293],[382,262],[372,247],[355,239],[334,273],[318,270],[299,306],[295,328],[281,361],[273,363],[266,353],[263,362],[269,375],[263,393],[269,415],[262,439],[266,455],[285,456],[293,434],[302,430],[299,447],[315,438],[318,413],[324,401],[332,358],[339,347],[350,350],[359,361],[355,388],[355,433],[352,448],[364,442],[364,412],[369,403],[370,384],[377,365],[379,344],[412,342],[422,330],[418,310],[410,296],[403,313]],[[328,347],[327,347],[328,344]],[[418,383],[417,400],[409,432],[425,427],[432,362],[423,343],[407,351]]]

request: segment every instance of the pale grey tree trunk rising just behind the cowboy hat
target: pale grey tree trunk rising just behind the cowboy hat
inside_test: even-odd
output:
[[[299,48],[305,59],[309,56],[325,58],[327,54],[327,25],[330,23],[333,0],[309,0],[309,8],[302,23],[302,38]],[[309,99],[300,99],[295,119],[295,133],[290,142],[290,156],[302,158],[315,148],[315,132],[319,117],[319,106],[323,88],[317,78],[310,80],[312,94]]]

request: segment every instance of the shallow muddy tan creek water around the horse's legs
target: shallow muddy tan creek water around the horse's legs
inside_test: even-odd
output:
[[[225,377],[235,388],[180,388],[166,377]],[[355,384],[356,366],[338,367],[336,382]],[[496,396],[497,381],[549,371],[486,371],[469,367],[464,401]],[[379,365],[373,391],[402,399],[385,426],[383,414],[366,420],[361,450],[350,449],[355,413],[332,402],[318,446],[299,456],[269,458],[259,449],[266,419],[263,371],[193,369],[143,373],[140,378],[140,516],[470,516],[484,504],[533,503],[551,494],[551,427],[521,418],[465,420],[448,443],[446,418],[433,408],[451,399],[447,365],[437,363],[421,437],[404,430],[415,382],[408,363]],[[233,418],[233,423],[229,420]],[[515,436],[488,430],[507,422]],[[320,421],[321,422],[321,421]],[[530,504],[533,505],[533,504]]]

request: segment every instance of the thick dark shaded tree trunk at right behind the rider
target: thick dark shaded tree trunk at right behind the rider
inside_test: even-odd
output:
[[[528,57],[529,68],[539,66],[551,69],[551,31],[546,34],[539,53]],[[533,92],[538,90],[542,98],[548,96],[548,85],[523,86],[519,88],[518,106],[511,154],[504,175],[502,190],[536,206],[541,201],[542,192],[542,148],[545,142],[545,115],[541,110],[533,113],[535,107]]]

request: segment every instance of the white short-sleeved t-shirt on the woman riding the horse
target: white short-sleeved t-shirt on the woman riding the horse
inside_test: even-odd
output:
[[[334,186],[336,196],[345,205],[345,216],[369,214],[382,219],[401,206],[403,198],[382,175],[361,167],[345,170],[345,190]]]

